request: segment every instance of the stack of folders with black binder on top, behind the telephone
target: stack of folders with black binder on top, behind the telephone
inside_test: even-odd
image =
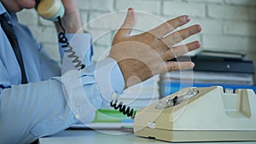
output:
[[[195,55],[177,61],[191,60],[193,70],[168,72],[160,76],[160,96],[164,97],[186,87],[213,85],[230,89],[254,89],[252,60],[227,55]]]

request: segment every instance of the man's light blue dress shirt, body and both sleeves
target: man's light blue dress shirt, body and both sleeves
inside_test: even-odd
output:
[[[8,12],[0,2],[3,13]],[[86,66],[77,71],[62,48],[62,66],[52,60],[16,14],[9,14],[9,23],[18,37],[28,84],[20,84],[19,64],[0,26],[0,144],[30,143],[78,121],[90,123],[102,102],[113,92],[122,93],[125,84],[117,62],[107,58],[92,63],[89,33],[67,35]]]

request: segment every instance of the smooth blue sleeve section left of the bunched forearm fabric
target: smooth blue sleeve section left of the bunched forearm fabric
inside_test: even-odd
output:
[[[61,83],[54,79],[4,87],[0,93],[0,143],[30,143],[78,121],[67,106]]]

